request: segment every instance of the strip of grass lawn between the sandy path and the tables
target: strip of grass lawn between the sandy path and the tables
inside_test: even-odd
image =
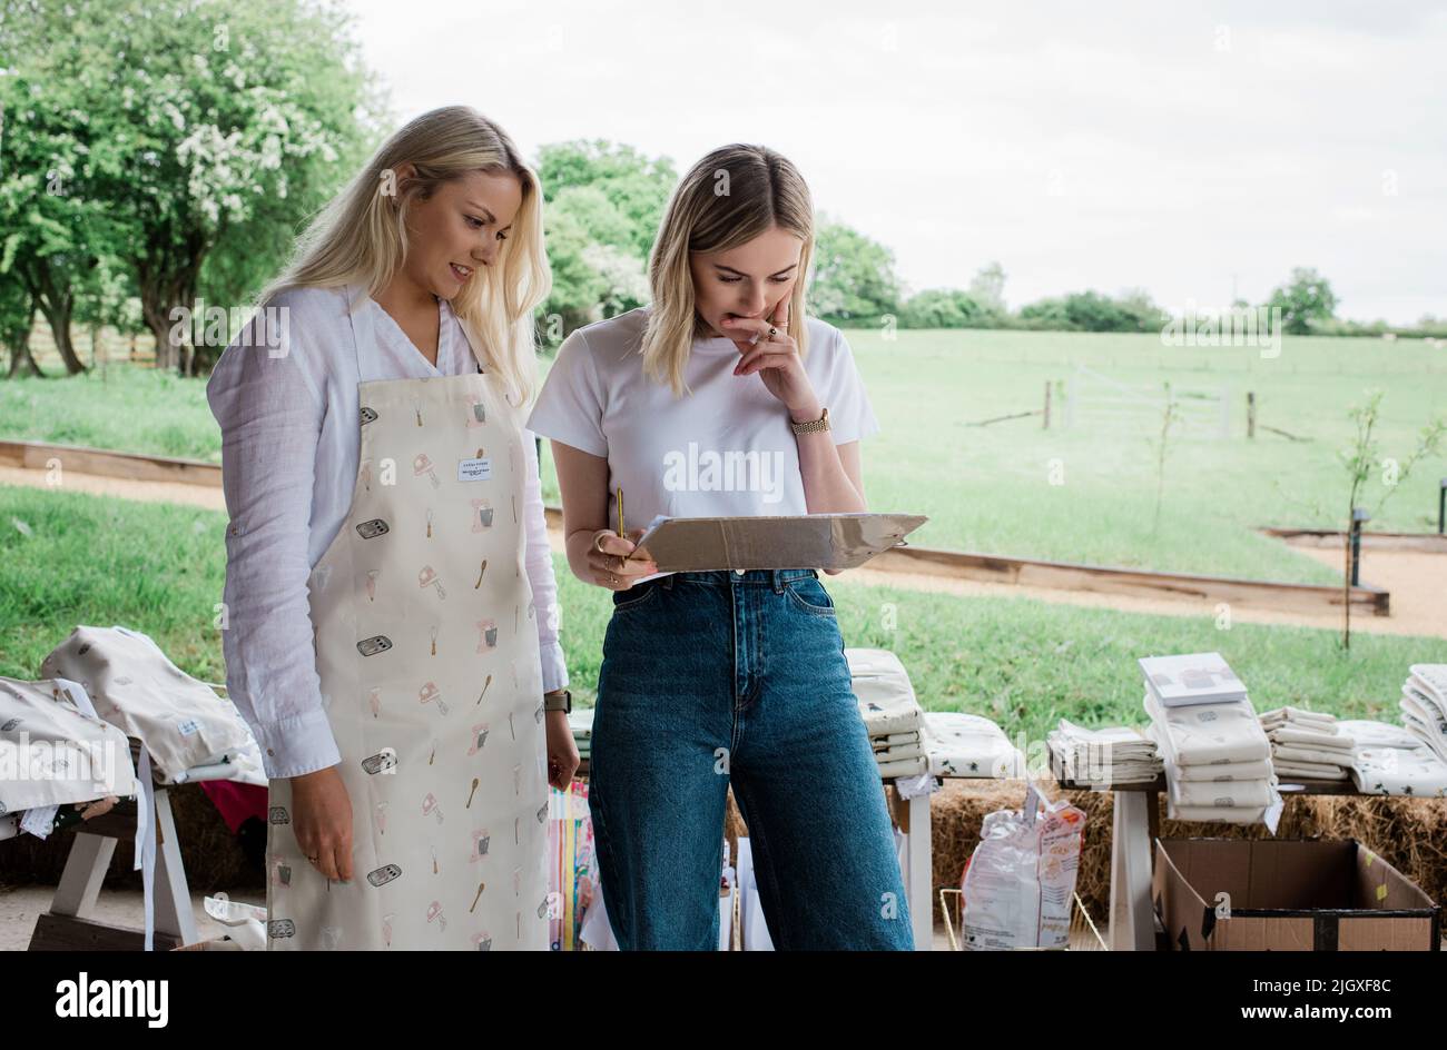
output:
[[[19,522],[19,525],[17,525]],[[226,571],[224,516],[84,493],[0,486],[0,675],[33,678],[78,623],[145,631],[185,671],[223,680],[214,607]],[[573,690],[590,703],[608,592],[560,557],[563,644]],[[1447,641],[1357,635],[1350,654],[1330,631],[1210,618],[1143,616],[865,587],[828,580],[845,644],[900,654],[930,710],[994,719],[1040,740],[1061,716],[1143,723],[1136,658],[1218,649],[1257,710],[1298,704],[1396,722],[1408,664],[1447,662]],[[887,625],[893,623],[893,628]]]

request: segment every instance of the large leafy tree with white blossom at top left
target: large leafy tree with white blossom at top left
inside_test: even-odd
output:
[[[6,54],[29,91],[10,132],[68,129],[46,148],[69,162],[71,195],[106,215],[74,247],[126,262],[156,364],[191,373],[171,331],[213,252],[233,259],[210,270],[218,289],[259,285],[369,137],[375,100],[346,19],[314,0],[6,3]],[[250,240],[232,236],[246,227]]]

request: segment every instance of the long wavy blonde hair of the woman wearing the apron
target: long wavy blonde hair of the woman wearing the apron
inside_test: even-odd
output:
[[[399,185],[411,163],[417,178]],[[492,266],[480,266],[450,301],[479,363],[495,370],[521,406],[532,398],[537,346],[532,311],[553,283],[543,247],[543,191],[508,133],[467,106],[431,110],[395,132],[360,174],[313,220],[291,263],[258,298],[298,286],[360,282],[381,292],[407,257],[407,211],[438,185],[470,172],[512,172],[522,205]],[[396,207],[391,205],[396,198]],[[353,305],[355,304],[349,304]]]

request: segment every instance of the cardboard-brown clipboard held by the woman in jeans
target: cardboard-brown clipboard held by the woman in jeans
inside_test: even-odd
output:
[[[929,521],[915,513],[654,518],[638,548],[660,573],[858,568]],[[637,554],[629,555],[637,557]]]

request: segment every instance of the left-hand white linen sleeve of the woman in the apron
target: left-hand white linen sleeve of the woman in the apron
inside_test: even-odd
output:
[[[266,775],[300,777],[341,761],[321,700],[308,602],[324,408],[295,344],[273,356],[262,338],[247,340],[247,330],[207,382],[230,518],[221,648],[227,691],[256,735]]]

